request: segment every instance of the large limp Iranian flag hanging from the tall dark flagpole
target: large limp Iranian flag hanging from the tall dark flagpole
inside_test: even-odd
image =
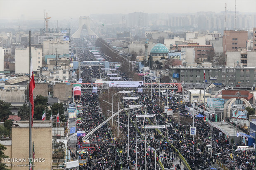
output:
[[[30,62],[30,72],[29,72],[29,102],[31,103],[31,127],[33,127],[33,116],[34,116],[34,98],[33,98],[33,91],[36,87],[35,80],[34,80],[34,74],[33,74],[33,67],[32,67],[32,57]]]

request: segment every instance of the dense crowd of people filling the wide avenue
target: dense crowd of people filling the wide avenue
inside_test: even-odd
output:
[[[93,55],[83,60],[92,60]],[[92,83],[92,78],[107,77],[107,73],[101,74],[102,67],[84,67],[81,73],[83,83]],[[131,81],[132,78],[126,76],[118,69],[111,70],[111,73],[116,73],[116,77],[121,77],[121,80]],[[141,76],[144,80],[144,76]],[[77,123],[77,130],[89,133],[102,123],[106,117],[102,114],[102,109],[99,102],[99,92],[93,93],[92,90],[83,90],[81,101],[79,104],[83,107],[83,112],[78,114],[79,122]],[[123,169],[133,168],[154,170],[163,165],[165,168],[183,169],[187,167],[182,163],[179,158],[179,153],[183,155],[192,170],[207,170],[213,168],[216,160],[222,161],[228,168],[235,166],[238,169],[253,169],[255,167],[254,159],[251,157],[255,155],[254,152],[235,151],[232,155],[233,145],[225,134],[221,133],[218,129],[212,129],[212,138],[210,136],[210,125],[204,117],[199,118],[194,115],[194,126],[197,127],[197,134],[192,139],[190,136],[190,126],[192,126],[192,116],[185,110],[186,103],[180,103],[180,113],[178,113],[178,98],[169,96],[168,102],[166,96],[159,95],[158,90],[150,92],[133,92],[123,94],[124,96],[138,96],[139,99],[131,99],[123,102],[120,108],[128,108],[129,105],[141,105],[142,109],[136,111],[123,111],[119,115],[119,131],[126,138],[119,138],[111,136],[111,127],[109,124],[104,124],[100,129],[95,131],[89,138],[91,149],[88,153],[82,155],[77,154],[80,159],[86,159],[87,163],[83,169],[94,170],[110,170],[110,169]],[[122,98],[119,101],[123,101]],[[160,103],[159,103],[160,101]],[[180,114],[181,120],[189,120],[187,124],[178,124],[174,116],[168,116],[164,113],[164,109],[160,106],[170,106],[174,115]],[[154,118],[139,118],[136,122],[137,114],[155,114]],[[201,113],[204,114],[204,113]],[[129,115],[129,116],[128,116]],[[115,118],[117,119],[117,118]],[[209,117],[214,121],[213,117]],[[128,132],[129,122],[129,132]],[[182,122],[182,121],[181,121]],[[159,129],[145,129],[146,125],[168,125],[168,128]],[[137,130],[135,129],[137,126]],[[137,141],[136,141],[137,131]],[[128,135],[129,133],[129,135]],[[129,136],[129,143],[127,137]],[[146,138],[146,140],[145,140]],[[212,141],[212,153],[206,148]],[[78,145],[82,145],[82,138],[78,138]],[[137,156],[136,156],[136,143],[137,143]],[[146,146],[145,146],[146,145]],[[235,149],[236,146],[235,145]],[[78,147],[78,150],[81,149]],[[178,152],[177,150],[178,149]],[[79,157],[80,156],[80,157]],[[155,165],[156,156],[156,165]],[[233,162],[235,157],[235,164]],[[137,158],[137,159],[136,159]],[[147,166],[147,168],[146,168]]]

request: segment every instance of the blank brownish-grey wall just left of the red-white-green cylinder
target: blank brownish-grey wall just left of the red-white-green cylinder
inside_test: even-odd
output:
[[[66,83],[56,83],[53,86],[53,97],[59,98],[61,101],[67,101],[72,97],[72,85]]]

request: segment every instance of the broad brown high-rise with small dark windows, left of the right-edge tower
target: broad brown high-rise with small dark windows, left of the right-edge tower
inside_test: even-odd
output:
[[[237,51],[238,48],[247,47],[248,32],[224,30],[223,35],[223,52]]]

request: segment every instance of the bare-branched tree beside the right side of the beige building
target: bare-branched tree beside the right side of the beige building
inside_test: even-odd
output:
[[[59,167],[59,160],[60,159],[64,159],[64,157],[66,156],[65,154],[65,144],[64,142],[57,142],[57,140],[55,139],[52,143],[54,151],[52,154],[52,159],[56,159],[57,160],[57,168]]]

